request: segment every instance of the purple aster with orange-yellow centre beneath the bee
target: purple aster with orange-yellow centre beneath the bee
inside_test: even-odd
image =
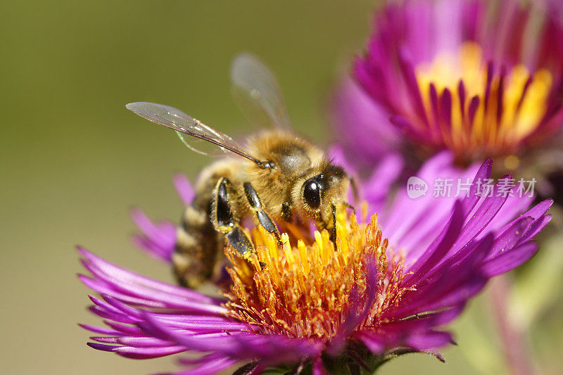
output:
[[[472,177],[464,198],[412,200],[367,198],[359,218],[339,212],[336,243],[326,231],[312,236],[293,228],[283,246],[267,232],[249,228],[257,251],[250,260],[229,248],[232,283],[222,297],[203,295],[144,277],[80,248],[90,276],[80,279],[91,311],[106,327],[93,331],[92,348],[130,358],[196,353],[180,362],[182,374],[213,374],[240,367],[258,374],[284,364],[313,374],[349,367],[370,371],[403,352],[429,352],[453,342],[441,326],[457,317],[491,277],[536,253],[531,242],[550,220],[550,201],[527,210],[531,198],[479,196],[476,181],[491,175],[490,160],[468,170],[451,167],[441,153],[419,177]],[[381,166],[392,170],[394,160]],[[365,191],[385,189],[373,178]],[[189,202],[185,179],[176,179]],[[387,190],[387,196],[391,196]],[[369,197],[369,194],[366,195]],[[379,210],[381,215],[366,215]],[[524,213],[522,213],[524,212]],[[521,214],[521,215],[520,215]],[[152,224],[139,212],[137,237],[149,253],[168,260],[173,248],[169,224]]]

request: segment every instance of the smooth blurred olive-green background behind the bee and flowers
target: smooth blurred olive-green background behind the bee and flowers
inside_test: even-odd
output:
[[[228,68],[236,53],[252,51],[276,73],[296,129],[326,143],[324,103],[361,50],[373,8],[365,0],[4,1],[3,373],[177,369],[171,357],[135,361],[92,350],[89,333],[77,326],[99,319],[85,308],[89,291],[75,277],[82,269],[74,246],[172,281],[165,266],[129,243],[134,226],[128,211],[139,205],[154,218],[179,217],[172,174],[193,176],[208,163],[172,132],[129,113],[125,103],[167,103],[244,134],[248,127],[229,95]],[[486,347],[473,345],[471,355],[460,349],[489,330],[479,318],[486,314],[483,305],[472,304],[455,324],[460,346],[444,351],[448,364],[410,355],[381,373],[498,371]]]

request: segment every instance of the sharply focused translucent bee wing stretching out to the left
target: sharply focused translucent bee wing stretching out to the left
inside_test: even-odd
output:
[[[193,147],[189,146],[184,140],[182,134],[188,134],[197,139],[208,141],[219,146],[223,151],[227,150],[232,153],[236,153],[237,155],[241,155],[243,158],[247,158],[260,166],[265,165],[265,163],[244,151],[243,148],[236,144],[236,142],[233,141],[233,139],[227,134],[219,132],[218,130],[213,129],[213,127],[208,127],[203,124],[203,122],[196,120],[190,115],[186,115],[186,113],[183,113],[181,110],[177,110],[176,108],[169,106],[163,106],[162,104],[147,103],[143,101],[129,103],[125,105],[125,107],[133,113],[146,118],[146,120],[156,122],[159,125],[175,130],[179,133],[178,135],[184,144],[196,152],[200,151],[197,151]]]

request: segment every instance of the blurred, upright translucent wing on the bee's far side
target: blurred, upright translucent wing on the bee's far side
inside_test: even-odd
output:
[[[270,70],[250,53],[241,53],[231,65],[233,95],[243,113],[259,125],[291,129],[284,97]]]

